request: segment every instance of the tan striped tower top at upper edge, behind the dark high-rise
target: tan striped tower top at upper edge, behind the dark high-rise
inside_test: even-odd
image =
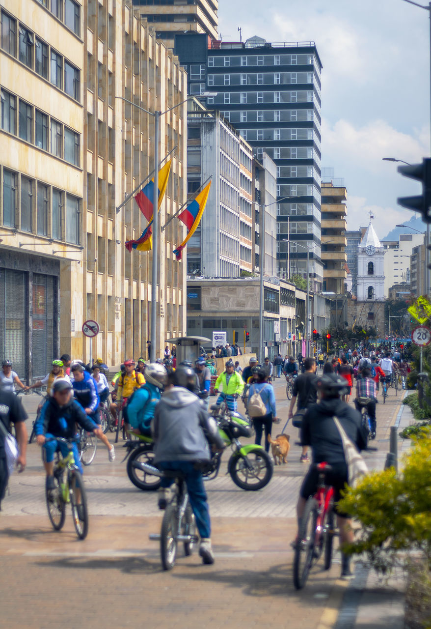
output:
[[[217,38],[218,0],[133,0],[134,13],[146,18],[156,36],[173,48],[179,33],[203,33]]]

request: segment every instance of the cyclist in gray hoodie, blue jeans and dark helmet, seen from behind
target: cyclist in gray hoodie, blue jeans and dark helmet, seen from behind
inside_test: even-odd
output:
[[[200,535],[199,555],[204,564],[214,564],[211,522],[207,494],[202,480],[202,464],[210,460],[208,441],[223,449],[216,422],[193,394],[195,373],[178,366],[168,374],[165,393],[157,404],[151,430],[155,438],[154,462],[163,470],[181,470],[185,476],[190,506]],[[173,479],[162,478],[159,508],[164,509]]]

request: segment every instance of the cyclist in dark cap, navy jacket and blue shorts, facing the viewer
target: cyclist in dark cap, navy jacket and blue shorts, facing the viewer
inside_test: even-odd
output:
[[[46,443],[46,439],[63,437],[71,439],[76,435],[76,424],[85,428],[88,432],[94,432],[97,437],[103,434],[97,428],[94,421],[85,414],[82,406],[72,396],[73,387],[70,380],[58,379],[54,382],[52,398],[48,398],[43,404],[41,413],[36,420],[36,443],[43,447],[42,460],[46,472],[46,489],[55,489],[54,484],[54,454],[60,450],[63,457],[67,456],[68,448],[65,443],[53,440]],[[79,460],[77,444],[71,444],[74,453],[75,465],[81,474],[84,474]]]

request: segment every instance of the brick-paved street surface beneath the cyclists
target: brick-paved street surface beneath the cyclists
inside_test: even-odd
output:
[[[275,381],[275,391],[281,423],[274,426],[273,435],[287,418],[284,379]],[[390,426],[400,420],[401,425],[410,422],[407,407],[401,407],[401,416],[403,394],[398,392],[395,398],[391,389],[386,404],[378,405],[379,451],[366,454],[371,468],[385,464]],[[30,433],[40,398],[23,400]],[[300,448],[294,445],[297,430],[289,424],[286,433],[292,444],[288,463],[275,468],[270,484],[261,491],[236,487],[225,474],[229,454],[224,454],[225,467],[207,484],[216,563],[204,566],[197,554],[183,557],[180,552],[171,572],[162,571],[158,542],[148,538],[160,531],[156,495],[139,491],[129,481],[121,463],[121,442],[114,464],[109,464],[106,448],[99,443],[94,462],[84,469],[90,509],[84,542],[77,541],[70,510],[62,532],[52,530],[40,448],[30,445],[26,471],[11,479],[0,516],[0,627],[45,628],[62,623],[109,628],[140,622],[152,629],[336,626],[349,588],[337,579],[339,553],[329,573],[320,562],[305,589],[297,592],[293,587],[290,542],[307,466],[300,463]],[[108,437],[113,441],[112,435]],[[383,627],[388,626],[391,611],[396,615],[397,610],[390,609],[388,601],[386,607],[380,604],[369,613],[375,626]],[[374,625],[365,617],[361,626]]]

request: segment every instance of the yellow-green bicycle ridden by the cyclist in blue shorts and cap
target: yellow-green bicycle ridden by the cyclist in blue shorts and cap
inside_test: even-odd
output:
[[[84,540],[89,529],[89,513],[84,482],[75,463],[74,452],[70,448],[74,439],[53,437],[46,440],[46,442],[49,441],[65,443],[69,448],[69,452],[66,457],[60,457],[58,452],[56,455],[54,464],[55,488],[45,489],[48,516],[53,528],[59,531],[65,521],[66,504],[70,503],[75,531],[79,539]]]

